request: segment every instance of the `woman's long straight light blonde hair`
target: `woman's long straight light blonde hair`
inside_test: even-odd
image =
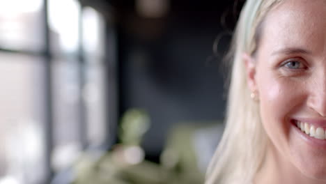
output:
[[[233,66],[226,128],[208,167],[205,184],[253,183],[263,162],[268,138],[258,102],[250,98],[242,54],[255,54],[264,17],[279,1],[248,0],[242,8],[230,50]]]

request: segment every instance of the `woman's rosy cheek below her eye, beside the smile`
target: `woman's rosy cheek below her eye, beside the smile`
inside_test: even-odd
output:
[[[290,114],[302,102],[302,93],[297,90],[300,84],[288,78],[267,75],[265,72],[258,78],[257,87],[261,119],[267,135],[274,144],[279,139],[288,139]]]

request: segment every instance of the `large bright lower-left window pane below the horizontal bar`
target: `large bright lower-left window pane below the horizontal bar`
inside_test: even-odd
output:
[[[0,183],[40,183],[45,175],[42,59],[1,52],[0,75]]]

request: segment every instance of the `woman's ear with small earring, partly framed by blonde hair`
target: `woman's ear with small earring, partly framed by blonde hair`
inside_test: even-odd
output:
[[[256,62],[252,56],[249,56],[247,53],[242,54],[242,61],[246,67],[247,72],[247,85],[251,92],[257,91],[256,84]]]

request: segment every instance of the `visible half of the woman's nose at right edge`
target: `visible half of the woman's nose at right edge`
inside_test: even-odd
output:
[[[326,73],[314,80],[312,86],[309,86],[310,95],[307,105],[320,116],[326,117]]]

